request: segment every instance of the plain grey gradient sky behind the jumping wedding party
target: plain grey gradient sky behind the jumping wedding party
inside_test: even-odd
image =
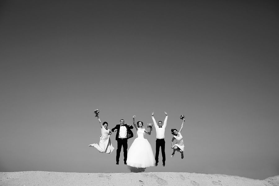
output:
[[[278,22],[277,1],[1,1],[0,171],[130,172],[115,133],[88,147],[99,109],[109,129],[168,113],[145,172],[279,175]]]

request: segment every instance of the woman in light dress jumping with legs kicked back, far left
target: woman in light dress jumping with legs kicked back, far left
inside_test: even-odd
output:
[[[93,143],[93,144],[90,144],[89,147],[95,147],[101,153],[105,152],[105,153],[110,154],[114,149],[114,147],[111,144],[110,138],[109,138],[110,134],[112,132],[108,129],[108,123],[107,122],[104,122],[102,124],[98,114],[96,114],[96,117],[99,120],[102,135],[100,136],[99,145],[97,143]]]

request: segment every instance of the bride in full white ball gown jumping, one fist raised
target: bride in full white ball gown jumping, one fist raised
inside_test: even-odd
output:
[[[154,166],[155,158],[153,155],[152,147],[147,139],[144,138],[144,132],[151,134],[152,128],[147,132],[144,129],[143,122],[138,121],[135,124],[135,116],[133,116],[133,123],[137,129],[137,138],[135,138],[127,154],[127,165],[136,168],[146,168]]]

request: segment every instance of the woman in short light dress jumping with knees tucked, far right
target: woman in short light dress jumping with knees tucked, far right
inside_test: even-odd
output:
[[[183,156],[183,152],[184,152],[184,143],[183,143],[183,137],[180,134],[182,128],[183,128],[183,123],[184,123],[185,119],[183,118],[182,124],[181,124],[181,128],[180,130],[177,132],[177,129],[171,129],[171,134],[173,134],[173,138],[171,140],[171,148],[173,148],[173,153],[171,154],[171,157],[174,156],[175,151],[178,151],[181,153],[181,159],[184,158]],[[176,140],[176,143],[173,145],[173,141]]]

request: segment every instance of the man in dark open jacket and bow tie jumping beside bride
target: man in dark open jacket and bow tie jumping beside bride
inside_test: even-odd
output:
[[[121,152],[121,147],[123,146],[123,152],[124,152],[124,164],[127,165],[127,148],[128,143],[127,139],[133,137],[133,132],[131,129],[134,127],[132,125],[125,124],[124,120],[120,120],[120,125],[116,125],[113,129],[111,129],[113,132],[117,132],[115,139],[117,140],[117,150],[116,150],[116,165],[119,164],[119,157]]]

